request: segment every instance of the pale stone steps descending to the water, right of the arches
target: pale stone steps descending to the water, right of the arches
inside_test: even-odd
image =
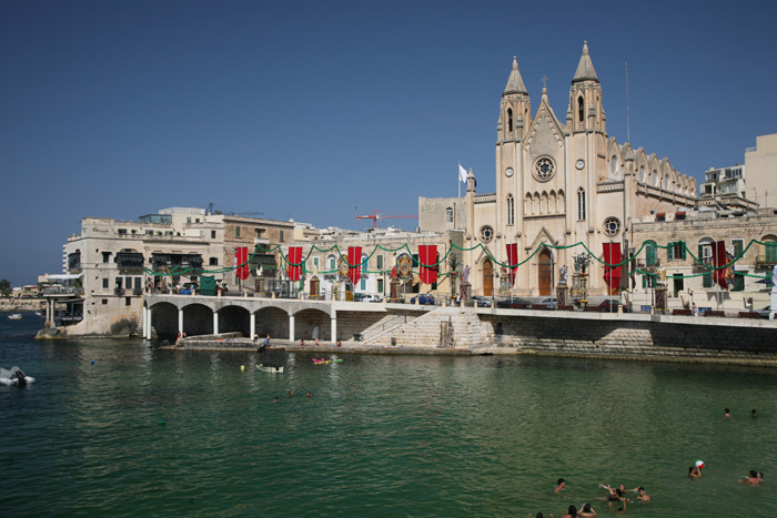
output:
[[[475,349],[494,342],[490,324],[468,308],[438,307],[366,341],[365,345]]]

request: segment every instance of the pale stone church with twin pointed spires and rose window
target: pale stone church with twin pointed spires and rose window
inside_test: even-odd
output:
[[[583,243],[599,260],[620,263],[629,247],[642,244],[629,243],[634,222],[693,210],[696,180],[675,171],[665,158],[619,144],[607,134],[606,121],[587,42],[563,120],[551,108],[545,88],[533,114],[513,59],[496,124],[496,192],[477,193],[470,170],[463,197],[418,201],[422,230],[464,231],[462,258],[470,267],[472,294],[555,295],[559,270],[566,266],[571,275],[573,256],[585,252],[572,245]],[[619,270],[605,272],[592,261],[588,293],[625,290],[626,275],[620,278]]]

